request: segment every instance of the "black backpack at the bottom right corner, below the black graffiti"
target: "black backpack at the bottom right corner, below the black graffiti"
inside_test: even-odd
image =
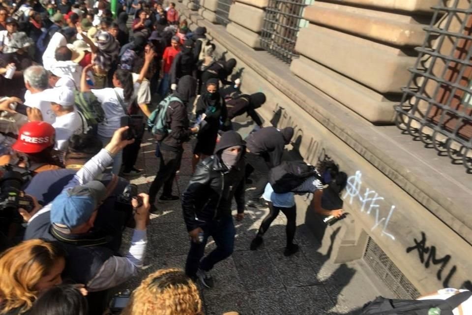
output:
[[[367,303],[360,315],[453,315],[452,311],[472,295],[457,293],[446,300],[394,300],[381,296]]]

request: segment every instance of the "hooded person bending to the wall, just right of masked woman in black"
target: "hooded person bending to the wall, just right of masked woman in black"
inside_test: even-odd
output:
[[[262,121],[256,113],[256,109],[266,102],[266,95],[262,92],[251,95],[238,95],[235,98],[226,101],[228,110],[228,120],[232,120],[236,116],[247,114],[256,123],[257,128],[262,128]]]

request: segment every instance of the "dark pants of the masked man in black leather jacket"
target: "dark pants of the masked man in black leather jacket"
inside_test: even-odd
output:
[[[236,229],[233,217],[229,216],[221,220],[208,222],[205,226],[202,226],[202,229],[204,231],[203,242],[190,242],[190,251],[185,263],[185,273],[189,277],[195,277],[198,268],[210,271],[217,262],[228,258],[235,247]],[[213,237],[216,249],[202,259],[209,236]],[[202,261],[200,261],[201,259]]]

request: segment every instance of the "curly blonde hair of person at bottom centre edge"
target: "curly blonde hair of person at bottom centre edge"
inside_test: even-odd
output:
[[[204,315],[197,286],[177,268],[161,269],[134,290],[121,315]]]

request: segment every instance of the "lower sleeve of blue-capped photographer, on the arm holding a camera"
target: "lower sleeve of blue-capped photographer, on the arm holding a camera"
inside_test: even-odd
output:
[[[112,288],[136,275],[143,266],[148,239],[146,230],[134,230],[131,246],[125,257],[112,256],[105,261],[98,273],[89,281],[90,292]]]

